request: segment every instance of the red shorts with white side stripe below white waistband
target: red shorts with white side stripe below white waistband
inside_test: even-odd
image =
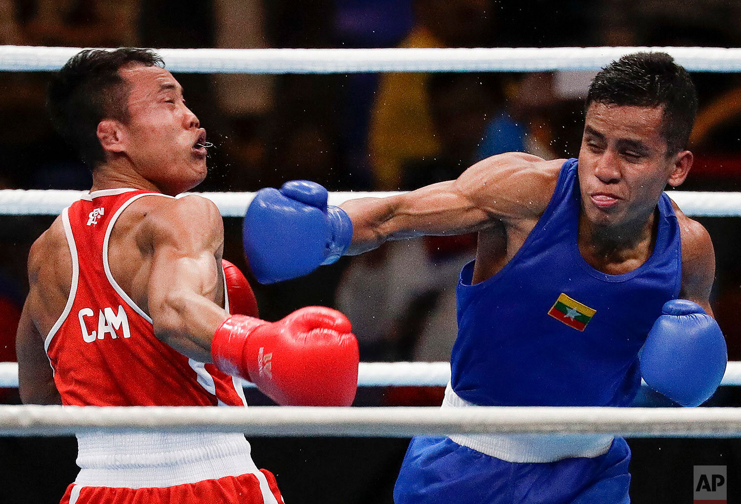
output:
[[[60,504],[283,504],[273,474],[265,469],[260,469],[260,472],[265,476],[268,488],[261,488],[256,474],[226,476],[218,480],[163,488],[113,488],[73,483],[67,487]]]

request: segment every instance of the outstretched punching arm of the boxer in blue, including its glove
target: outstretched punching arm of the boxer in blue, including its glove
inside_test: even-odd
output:
[[[327,189],[309,181],[261,189],[245,215],[245,255],[257,280],[273,283],[386,240],[537,219],[551,200],[562,162],[510,152],[474,164],[454,181],[342,207],[328,206]]]

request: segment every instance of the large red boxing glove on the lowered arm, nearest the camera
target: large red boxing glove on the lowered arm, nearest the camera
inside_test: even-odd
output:
[[[324,306],[278,322],[232,315],[216,329],[216,367],[241,376],[285,406],[350,406],[358,386],[358,342],[350,320]]]

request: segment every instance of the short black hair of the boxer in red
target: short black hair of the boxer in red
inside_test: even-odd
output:
[[[105,161],[96,133],[106,118],[127,123],[130,86],[119,74],[127,64],[160,66],[162,58],[148,49],[87,49],[70,58],[49,86],[47,106],[55,129],[90,169]]]

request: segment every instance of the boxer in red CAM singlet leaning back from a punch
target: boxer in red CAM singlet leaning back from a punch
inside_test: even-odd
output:
[[[349,406],[358,350],[344,315],[313,306],[259,320],[247,280],[222,263],[219,210],[176,197],[205,178],[205,130],[159,57],[83,51],[49,102],[93,187],[30,251],[24,403],[243,406],[242,377],[279,404]],[[78,441],[81,471],[62,503],[282,503],[242,434]]]

